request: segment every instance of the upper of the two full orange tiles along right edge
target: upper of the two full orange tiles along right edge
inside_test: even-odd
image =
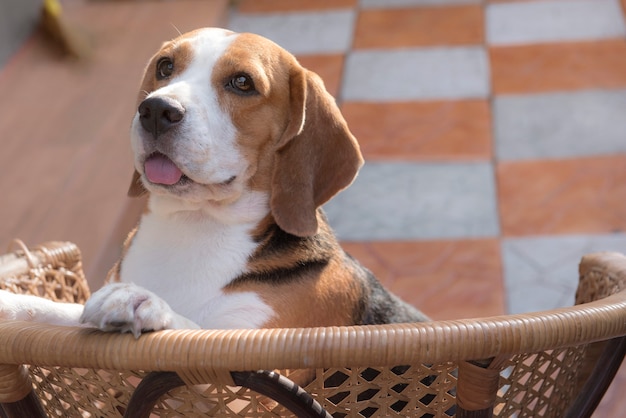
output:
[[[495,47],[495,93],[626,87],[626,39]]]

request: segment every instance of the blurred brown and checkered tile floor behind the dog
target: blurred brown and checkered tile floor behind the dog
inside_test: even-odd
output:
[[[0,243],[76,242],[92,288],[143,203],[143,67],[202,26],[322,76],[366,159],[330,221],[433,318],[571,305],[584,253],[626,252],[626,0],[66,0],[47,31],[41,1],[0,5]]]

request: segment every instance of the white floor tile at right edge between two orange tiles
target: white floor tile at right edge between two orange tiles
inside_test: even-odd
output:
[[[494,138],[501,160],[626,152],[626,90],[498,96]]]

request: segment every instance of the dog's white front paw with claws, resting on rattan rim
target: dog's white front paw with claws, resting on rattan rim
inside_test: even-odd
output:
[[[175,314],[154,293],[129,283],[112,283],[91,295],[80,317],[103,331],[132,332],[172,328]]]

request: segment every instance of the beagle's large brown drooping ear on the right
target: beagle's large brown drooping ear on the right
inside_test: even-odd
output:
[[[363,158],[322,80],[298,64],[290,74],[290,120],[278,143],[270,207],[278,226],[317,233],[317,208],[348,187]]]

